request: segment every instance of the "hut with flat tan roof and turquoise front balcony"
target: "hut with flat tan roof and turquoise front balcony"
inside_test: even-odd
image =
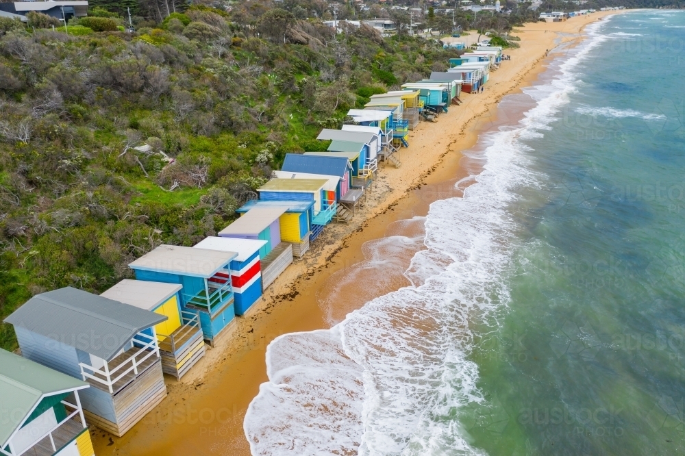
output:
[[[336,201],[328,199],[325,193],[324,187],[327,184],[327,179],[271,179],[258,188],[257,192],[263,200],[314,201],[312,235],[310,236],[310,240],[314,240],[323,227],[331,222],[338,208]]]

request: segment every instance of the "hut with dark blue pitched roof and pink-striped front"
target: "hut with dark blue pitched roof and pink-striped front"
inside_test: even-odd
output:
[[[351,125],[343,125],[350,127]],[[356,125],[355,125],[356,126]],[[361,127],[380,131],[379,127]],[[338,199],[344,197],[349,190],[352,180],[352,165],[347,157],[317,157],[300,153],[286,153],[286,158],[281,166],[282,172],[308,173],[312,175],[327,175],[338,177],[336,193]]]

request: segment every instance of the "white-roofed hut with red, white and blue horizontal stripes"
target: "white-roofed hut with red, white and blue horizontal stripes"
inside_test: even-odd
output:
[[[195,244],[195,249],[237,252],[231,260],[231,285],[235,296],[236,315],[245,315],[247,310],[262,297],[262,266],[260,249],[265,240],[219,238],[210,236]],[[291,256],[292,258],[292,256]],[[271,277],[269,277],[271,278]],[[273,277],[271,283],[276,277]],[[267,283],[267,286],[269,285]],[[266,286],[264,287],[266,288]]]

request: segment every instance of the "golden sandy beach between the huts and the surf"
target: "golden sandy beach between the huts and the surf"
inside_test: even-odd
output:
[[[621,12],[625,12],[621,11]],[[507,49],[482,94],[462,94],[435,123],[421,123],[402,149],[400,168],[379,168],[371,194],[349,225],[329,225],[306,256],[293,263],[265,292],[262,301],[182,379],[165,377],[169,396],[123,438],[91,427],[97,455],[249,455],[242,421],[250,401],[267,381],[264,355],[284,333],[330,327],[375,296],[410,285],[402,275],[421,245],[388,250],[392,268],[369,257],[383,252],[388,236],[420,238],[429,204],[458,196],[454,183],[478,172],[464,162],[482,131],[503,122],[495,115],[506,94],[530,85],[544,69],[548,51],[580,38],[582,28],[618,11],[597,12],[562,23],[531,23],[515,29],[520,49]],[[410,221],[414,217],[419,219]],[[390,249],[390,247],[388,247]],[[373,286],[356,286],[356,277],[378,277]]]

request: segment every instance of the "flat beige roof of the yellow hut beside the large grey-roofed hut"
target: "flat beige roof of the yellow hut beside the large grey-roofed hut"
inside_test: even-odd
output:
[[[183,286],[178,283],[123,279],[109,290],[102,292],[100,296],[133,305],[138,309],[153,310],[169,300],[181,288]]]

